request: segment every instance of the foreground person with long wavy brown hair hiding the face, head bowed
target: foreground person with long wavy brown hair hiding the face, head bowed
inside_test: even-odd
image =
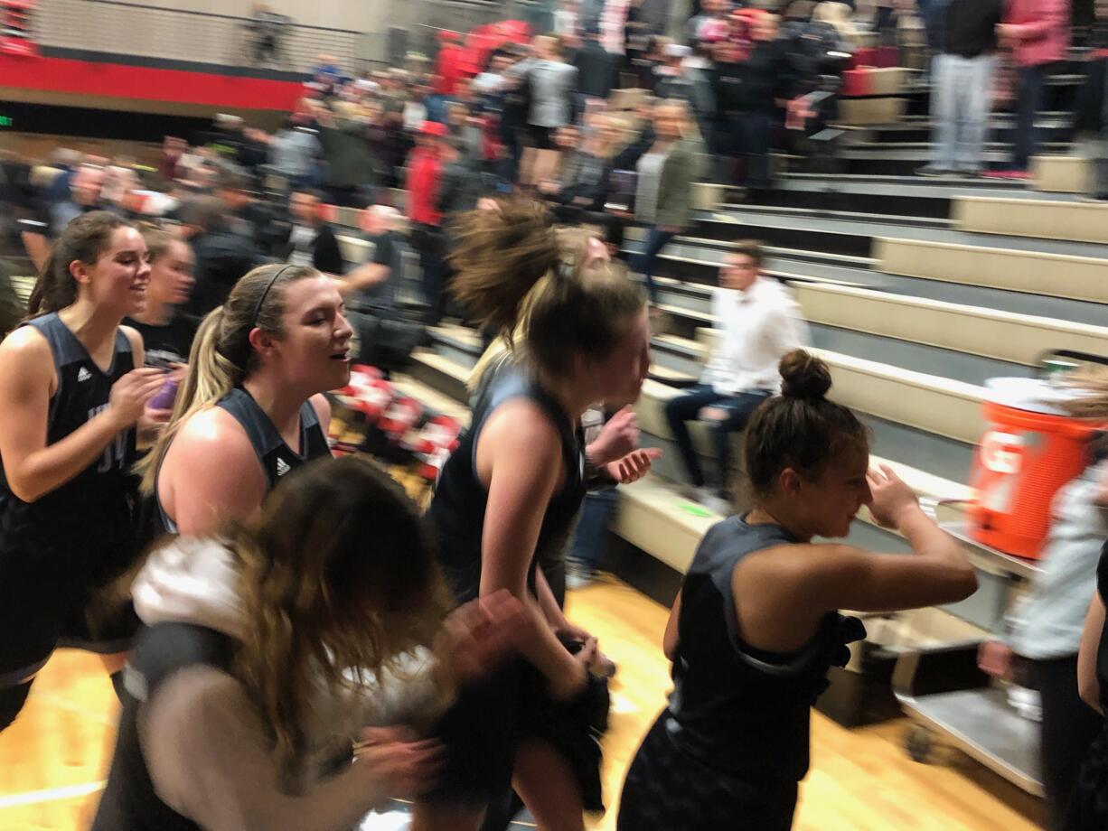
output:
[[[347,831],[423,792],[442,751],[413,730],[527,629],[507,592],[449,615],[445,592],[420,513],[357,456],[154,551],[94,831]]]

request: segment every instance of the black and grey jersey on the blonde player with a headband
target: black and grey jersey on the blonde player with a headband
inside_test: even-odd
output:
[[[289,471],[299,468],[312,459],[329,455],[331,450],[327,444],[327,437],[324,435],[322,427],[319,424],[319,417],[311,401],[300,404],[300,452],[297,453],[280,437],[280,431],[269,420],[258,402],[254,400],[249,392],[242,387],[236,387],[216,403],[220,410],[226,410],[237,421],[254,448],[254,452],[261,465],[261,471],[266,475],[266,492],[268,493],[277,480]],[[155,482],[154,493],[157,494]],[[172,534],[177,533],[177,524],[170,519],[162,507],[161,500],[157,501],[157,509],[162,515],[162,524]]]

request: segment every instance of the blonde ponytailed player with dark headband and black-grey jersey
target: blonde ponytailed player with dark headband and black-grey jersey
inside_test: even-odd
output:
[[[260,266],[201,325],[173,417],[144,460],[166,531],[252,517],[277,480],[327,455],[322,393],[350,378],[350,326],[334,281]]]

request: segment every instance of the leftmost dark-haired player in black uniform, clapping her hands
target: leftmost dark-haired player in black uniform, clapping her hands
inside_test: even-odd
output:
[[[0,345],[0,729],[60,643],[111,656],[132,632],[90,633],[92,593],[129,565],[135,424],[163,382],[120,326],[146,301],[146,246],[105,212],[71,222]],[[135,369],[135,368],[138,369]]]

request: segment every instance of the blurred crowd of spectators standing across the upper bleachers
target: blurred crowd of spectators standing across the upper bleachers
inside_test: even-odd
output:
[[[505,28],[480,49],[442,32],[433,63],[409,55],[360,76],[320,55],[276,130],[220,115],[187,140],[167,136],[156,170],[64,150],[33,171],[6,165],[21,242],[38,267],[49,240],[92,208],[176,223],[196,249],[189,309],[201,314],[255,263],[311,261],[336,274],[360,265],[343,260],[321,204],[394,206],[418,255],[425,321],[437,322],[448,310],[450,217],[525,188],[558,222],[603,226],[616,253],[626,225],[644,226],[636,265],[653,295],[655,258],[688,224],[693,183],[770,187],[771,152],[796,152],[833,119],[863,33],[894,43],[897,29],[922,22],[934,41],[934,155],[921,173],[937,175],[983,171],[986,90],[1002,47],[1019,82],[1014,157],[999,175],[1025,175],[1045,72],[1069,37],[1061,0],[1019,0],[1007,11],[999,0],[948,0],[941,13],[911,0],[796,0],[776,12],[701,0],[679,40],[633,2],[614,42],[607,6],[564,0],[553,34]],[[1078,107],[1078,126],[1097,135],[1104,7]]]

